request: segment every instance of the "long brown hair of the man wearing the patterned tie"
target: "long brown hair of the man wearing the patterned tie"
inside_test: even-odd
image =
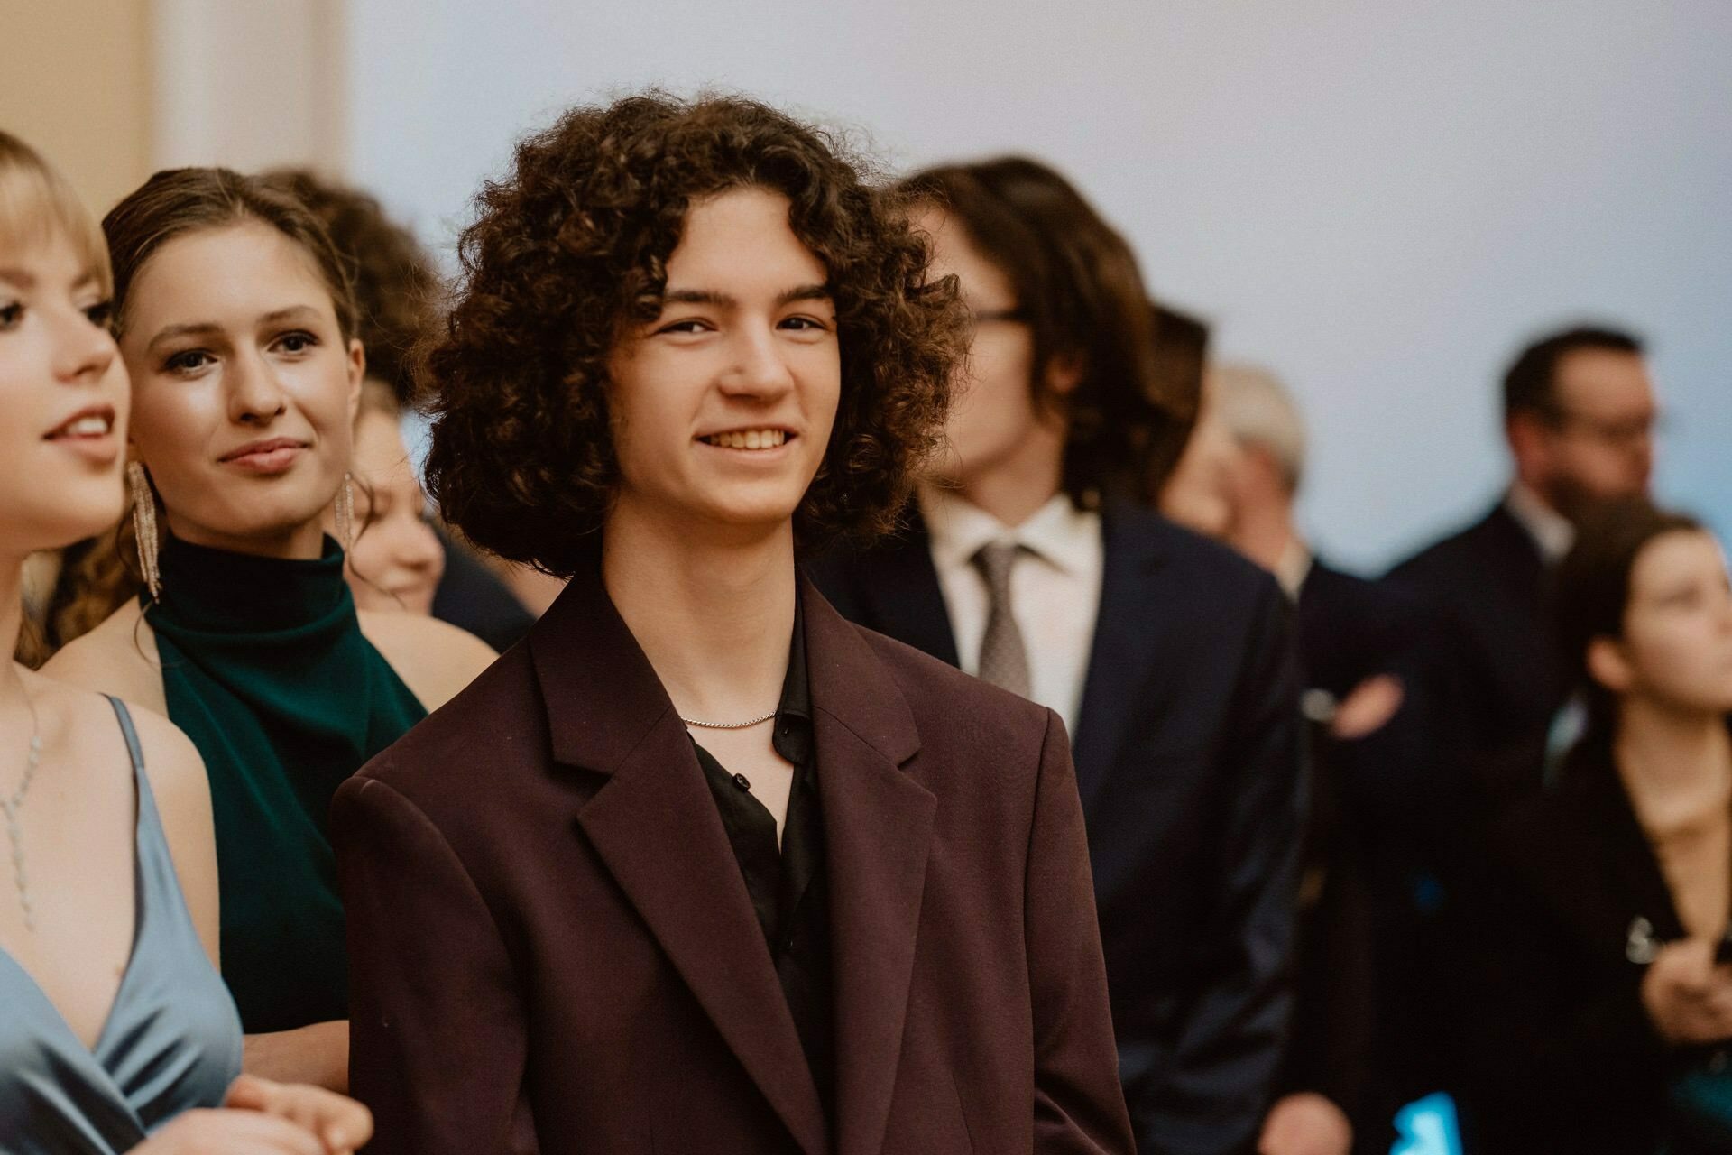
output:
[[[1148,478],[1171,468],[1195,417],[1174,388],[1183,374],[1166,364],[1131,246],[1069,180],[1029,158],[940,165],[902,189],[956,220],[1010,279],[1034,338],[1029,388],[1069,426],[1062,485],[1072,504],[1102,494],[1147,500]],[[1065,397],[1044,384],[1057,358],[1082,369]]]

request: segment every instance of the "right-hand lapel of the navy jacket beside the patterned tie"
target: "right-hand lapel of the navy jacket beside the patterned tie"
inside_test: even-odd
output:
[[[1070,741],[1084,812],[1119,757],[1138,694],[1160,653],[1159,590],[1148,575],[1160,565],[1162,551],[1141,525],[1152,516],[1122,502],[1108,502],[1102,511],[1100,613]]]

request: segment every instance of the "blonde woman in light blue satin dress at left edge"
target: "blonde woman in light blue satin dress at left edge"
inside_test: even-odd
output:
[[[126,372],[102,234],[0,132],[0,641],[24,559],[120,516]],[[236,1079],[199,755],[116,698],[0,668],[0,1143],[14,1155],[350,1152],[355,1103]],[[211,1110],[218,1107],[251,1110]],[[149,1136],[149,1138],[147,1138]]]

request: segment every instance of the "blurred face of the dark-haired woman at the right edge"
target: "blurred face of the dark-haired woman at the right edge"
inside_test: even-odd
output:
[[[1588,661],[1614,693],[1670,710],[1732,712],[1732,585],[1713,535],[1675,530],[1642,547],[1623,637],[1597,639]]]

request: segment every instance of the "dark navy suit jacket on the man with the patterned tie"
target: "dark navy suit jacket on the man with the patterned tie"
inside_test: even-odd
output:
[[[1249,1152],[1287,1029],[1304,809],[1290,613],[1275,580],[1108,504],[1072,752],[1119,1074],[1140,1150]],[[847,616],[956,663],[921,525],[809,566]]]

